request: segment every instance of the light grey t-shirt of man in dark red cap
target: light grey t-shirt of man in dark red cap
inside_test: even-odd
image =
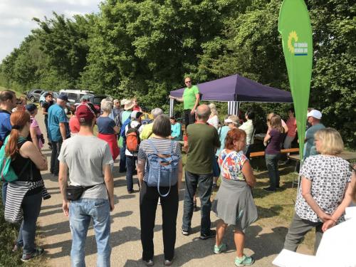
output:
[[[103,167],[113,163],[107,142],[95,136],[75,135],[64,140],[58,160],[66,163],[71,185],[89,187],[81,198],[108,199]]]

